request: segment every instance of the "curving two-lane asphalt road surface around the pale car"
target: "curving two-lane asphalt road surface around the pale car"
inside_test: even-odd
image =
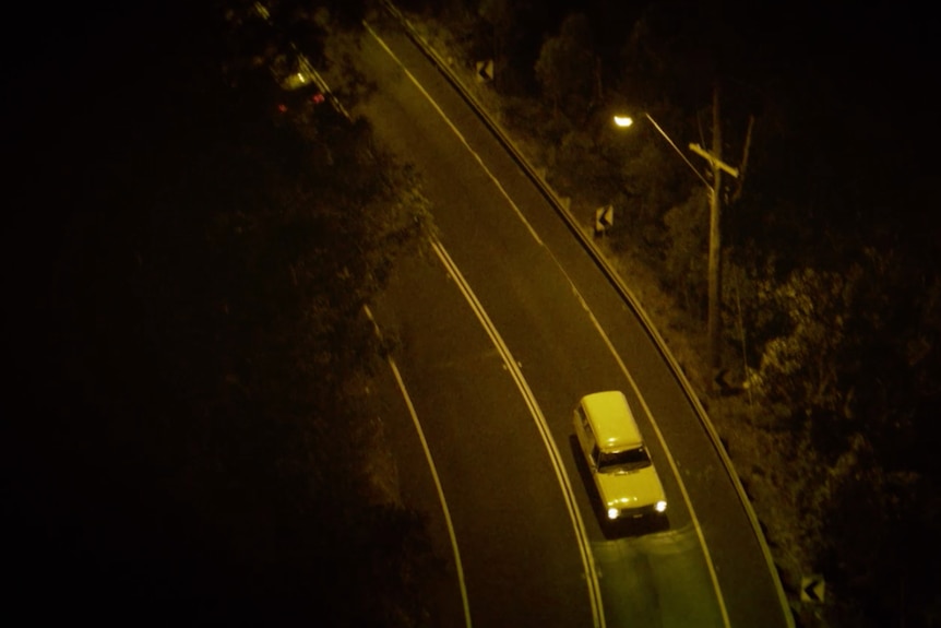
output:
[[[414,44],[376,34],[360,69],[378,92],[358,112],[421,171],[440,230],[440,253],[404,263],[376,306],[414,408],[383,393],[403,496],[453,577],[434,624],[786,626],[734,485],[633,311]],[[646,437],[666,526],[600,525],[571,422],[609,389]]]

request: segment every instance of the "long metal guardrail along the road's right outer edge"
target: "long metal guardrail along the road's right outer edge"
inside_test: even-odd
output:
[[[595,260],[595,263],[608,279],[608,281],[618,289],[621,294],[621,297],[628,304],[628,306],[633,310],[633,312],[641,320],[641,323],[644,327],[647,335],[654,341],[654,344],[657,346],[657,349],[667,360],[667,364],[670,366],[670,370],[674,374],[677,382],[682,388],[683,393],[687,395],[690,404],[696,412],[700,422],[708,434],[710,439],[713,442],[713,447],[718,453],[719,459],[723,462],[723,466],[726,470],[729,478],[735,486],[736,491],[738,493],[739,501],[745,508],[746,514],[748,516],[749,521],[751,522],[752,531],[754,532],[755,537],[758,538],[759,545],[761,546],[762,554],[764,555],[765,562],[767,564],[767,569],[772,576],[772,580],[774,581],[775,588],[777,589],[778,601],[781,602],[782,609],[784,611],[785,618],[787,620],[787,625],[789,628],[795,628],[794,615],[790,609],[790,605],[787,602],[787,596],[784,593],[784,586],[781,583],[781,577],[777,573],[777,567],[774,562],[774,557],[771,554],[771,548],[767,545],[767,541],[764,537],[764,533],[761,530],[761,523],[758,520],[758,516],[754,512],[754,509],[751,506],[751,501],[748,498],[748,494],[745,490],[745,487],[741,484],[741,479],[738,476],[738,473],[735,471],[735,465],[731,462],[731,459],[728,457],[728,452],[726,452],[725,447],[722,443],[722,440],[718,436],[718,433],[715,430],[715,427],[710,420],[708,415],[706,414],[705,408],[700,402],[699,398],[695,394],[695,391],[692,388],[692,384],[686,378],[680,368],[679,363],[676,357],[670,352],[663,336],[659,334],[657,329],[654,327],[653,321],[651,321],[646,311],[644,311],[643,307],[640,304],[640,300],[634,296],[631,289],[624,284],[615,269],[608,263],[605,257],[600,253],[597,247],[594,246],[591,239],[582,232],[579,227],[579,223],[574,216],[569,212],[565,204],[556,194],[556,191],[546,182],[546,180],[539,176],[526,157],[523,156],[523,153],[515,146],[513,141],[507,135],[507,133],[497,125],[487,111],[480,106],[477,99],[473,94],[464,86],[461,80],[451,71],[448,67],[448,62],[442,59],[438,52],[428,44],[425,38],[418,33],[415,26],[408,21],[407,17],[390,1],[390,0],[380,0],[382,7],[386,10],[386,12],[392,15],[404,28],[405,34],[412,39],[416,46],[418,46],[419,50],[434,64],[439,72],[444,76],[444,79],[461,94],[462,98],[474,109],[475,114],[483,120],[483,122],[490,129],[490,132],[497,138],[497,140],[503,145],[503,147],[510,153],[513,159],[520,165],[523,171],[529,177],[529,179],[536,185],[541,194],[550,202],[556,212],[562,217],[565,222],[569,229],[572,234],[580,240],[584,249],[592,256]]]

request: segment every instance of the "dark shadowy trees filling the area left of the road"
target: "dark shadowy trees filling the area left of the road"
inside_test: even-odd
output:
[[[422,623],[439,566],[362,393],[418,181],[329,104],[279,111],[300,3],[159,4],[14,13],[0,623]]]

